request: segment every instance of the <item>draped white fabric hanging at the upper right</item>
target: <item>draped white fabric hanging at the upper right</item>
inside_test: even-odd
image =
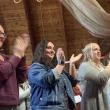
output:
[[[96,0],[60,0],[93,36],[110,38],[110,14]]]

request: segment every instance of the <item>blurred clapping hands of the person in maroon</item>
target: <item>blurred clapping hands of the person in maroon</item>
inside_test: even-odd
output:
[[[30,41],[29,35],[26,33],[23,33],[20,36],[18,36],[14,43],[13,49],[14,55],[22,58],[25,54],[26,48],[29,45],[29,41]]]

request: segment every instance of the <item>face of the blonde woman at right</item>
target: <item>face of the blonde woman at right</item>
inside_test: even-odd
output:
[[[98,44],[92,44],[91,57],[94,62],[100,61],[101,51]]]

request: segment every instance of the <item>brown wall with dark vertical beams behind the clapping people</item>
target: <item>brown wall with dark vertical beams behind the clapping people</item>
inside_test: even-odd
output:
[[[98,0],[110,12],[109,0]],[[62,47],[68,59],[72,53],[78,54],[85,44],[98,42],[103,51],[110,47],[109,39],[91,36],[58,0],[23,0],[14,4],[13,0],[0,0],[0,22],[4,23],[8,34],[7,51],[12,53],[13,40],[22,32],[29,32],[31,43],[27,50],[27,63],[31,64],[36,44],[41,39],[52,41],[56,48]]]

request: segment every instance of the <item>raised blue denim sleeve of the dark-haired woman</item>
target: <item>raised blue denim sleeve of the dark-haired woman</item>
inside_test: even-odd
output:
[[[55,76],[52,69],[38,64],[34,64],[29,69],[28,79],[30,83],[43,88],[52,87],[55,84]]]

